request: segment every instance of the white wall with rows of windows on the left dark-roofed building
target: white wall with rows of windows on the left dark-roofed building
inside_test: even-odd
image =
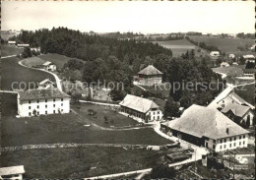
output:
[[[18,98],[19,97],[20,96],[18,95]],[[29,103],[29,100],[25,100],[22,103],[18,100],[18,114],[20,116],[32,116],[33,110],[36,110],[37,115],[58,114],[59,111],[61,113],[69,113],[70,98],[65,97],[63,98],[63,101],[61,98],[55,98],[55,101],[54,99],[47,99],[46,102],[45,99],[39,99],[38,102],[37,100],[31,100],[31,103]]]

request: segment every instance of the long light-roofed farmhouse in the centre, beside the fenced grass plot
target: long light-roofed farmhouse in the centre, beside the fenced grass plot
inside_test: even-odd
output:
[[[119,105],[121,114],[128,115],[139,122],[147,123],[162,118],[160,106],[147,98],[127,94]]]

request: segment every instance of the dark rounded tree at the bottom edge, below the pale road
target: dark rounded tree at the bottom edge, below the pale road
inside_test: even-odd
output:
[[[153,167],[150,176],[152,179],[174,179],[176,176],[176,170],[173,167],[168,167],[168,165],[160,164]]]

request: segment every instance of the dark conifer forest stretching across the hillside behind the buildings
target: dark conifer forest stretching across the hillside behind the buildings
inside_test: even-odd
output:
[[[112,90],[114,100],[120,100],[132,88],[133,76],[143,67],[153,64],[162,73],[162,81],[197,82],[218,86],[221,77],[213,73],[203,57],[183,56],[172,58],[172,51],[152,42],[120,40],[109,36],[86,34],[79,30],[57,28],[52,30],[23,30],[10,40],[30,43],[40,47],[42,53],[58,53],[71,60],[65,64],[64,73],[88,84],[105,81],[124,84],[124,90]],[[85,61],[77,61],[79,58]],[[71,77],[71,80],[72,80]],[[219,81],[219,82],[218,82]],[[206,105],[220,90],[170,90],[174,101],[184,107],[192,103]]]

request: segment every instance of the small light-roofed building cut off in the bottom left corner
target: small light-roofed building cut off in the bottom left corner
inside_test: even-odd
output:
[[[24,166],[10,166],[0,168],[0,179],[22,180],[25,173]]]

